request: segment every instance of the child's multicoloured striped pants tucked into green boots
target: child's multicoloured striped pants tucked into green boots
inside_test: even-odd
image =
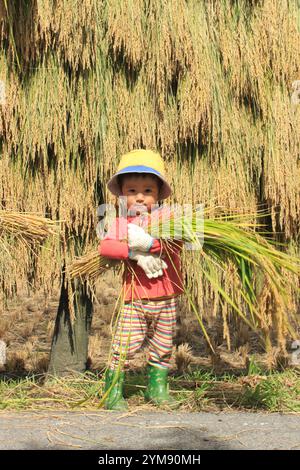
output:
[[[177,298],[137,300],[124,304],[112,345],[111,369],[127,368],[129,360],[149,346],[148,363],[169,368],[176,331]]]

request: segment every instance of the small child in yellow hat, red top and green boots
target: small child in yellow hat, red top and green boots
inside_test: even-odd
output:
[[[183,292],[181,243],[173,241],[167,247],[139,226],[147,221],[151,206],[171,194],[164,178],[162,158],[151,150],[133,150],[123,155],[117,173],[108,182],[108,189],[116,196],[126,196],[128,211],[126,218],[115,220],[99,245],[102,256],[126,263],[124,305],[113,339],[112,362],[105,377],[105,407],[127,409],[123,398],[124,370],[129,359],[145,343],[149,345],[145,398],[156,405],[172,405],[174,400],[168,393],[167,375],[176,326],[177,296]],[[159,214],[160,209],[156,211]]]

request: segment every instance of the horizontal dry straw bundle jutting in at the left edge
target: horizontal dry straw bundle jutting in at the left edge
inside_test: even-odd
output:
[[[53,220],[32,213],[0,210],[0,238],[11,236],[25,243],[41,243],[54,235],[57,224]]]

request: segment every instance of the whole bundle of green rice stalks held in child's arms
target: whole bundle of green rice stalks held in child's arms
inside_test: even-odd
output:
[[[209,215],[209,212],[210,210],[207,210],[205,214]],[[254,330],[268,329],[269,327],[268,319],[261,312],[259,298],[255,292],[255,274],[263,273],[264,282],[268,285],[274,298],[274,311],[278,317],[278,324],[281,324],[295,336],[285,315],[286,307],[289,305],[290,287],[286,273],[290,272],[299,276],[300,260],[279,251],[271,240],[267,240],[263,236],[263,234],[268,235],[267,233],[254,231],[254,228],[258,229],[262,225],[253,222],[253,220],[263,215],[265,214],[223,215],[215,219],[204,217],[201,227],[197,211],[194,211],[190,217],[176,215],[174,212],[167,219],[154,222],[152,220],[151,225],[145,225],[144,228],[152,236],[165,239],[164,243],[170,250],[172,250],[170,241],[178,238],[189,244],[192,243],[192,262],[197,264],[199,274],[204,275],[213,290],[219,293],[223,302],[230,305],[242,320]],[[199,227],[203,233],[199,231]],[[203,238],[204,244],[202,246]],[[171,258],[170,261],[172,262]],[[92,276],[95,279],[105,269],[105,263],[107,260],[101,259],[98,252],[91,253],[77,261],[77,269],[73,267],[71,275],[73,277]],[[249,315],[240,307],[234,295],[230,296],[218,281],[217,272],[225,271],[228,265],[231,265],[234,270],[232,282],[235,284],[236,292],[242,296]],[[109,268],[108,263],[106,268]],[[185,294],[213,350],[202,318],[187,287],[185,287]]]

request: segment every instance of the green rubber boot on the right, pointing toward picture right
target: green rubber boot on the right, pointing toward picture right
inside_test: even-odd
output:
[[[169,369],[166,367],[148,366],[148,387],[145,391],[146,401],[154,405],[167,405],[174,408],[178,405],[177,401],[169,395],[168,377]]]

